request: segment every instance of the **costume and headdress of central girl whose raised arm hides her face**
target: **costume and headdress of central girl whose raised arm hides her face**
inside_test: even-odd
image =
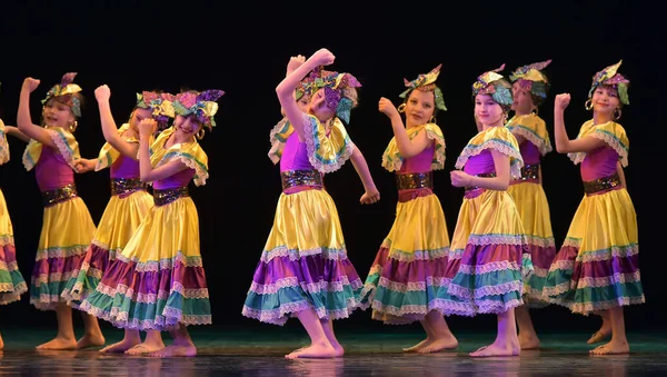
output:
[[[329,135],[310,115],[303,115],[305,142],[292,129],[282,132],[285,142],[277,149],[282,151],[277,155],[282,194],[242,309],[243,316],[262,323],[283,325],[307,309],[321,319],[347,318],[361,306],[362,282],[347,257],[338,211],[321,176],[339,169],[352,153],[340,121],[349,120],[351,102],[340,105],[349,101],[341,89],[360,85],[337,72],[322,75],[317,85],[329,93],[327,106],[340,111]]]

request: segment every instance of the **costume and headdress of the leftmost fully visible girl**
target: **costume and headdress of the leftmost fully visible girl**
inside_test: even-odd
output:
[[[79,86],[71,83],[74,76],[63,76],[42,102],[54,99],[80,115],[80,102],[72,96],[81,91]],[[77,140],[69,130],[60,127],[46,127],[46,130],[56,148],[44,148],[41,142],[30,140],[23,152],[23,165],[27,170],[34,168],[44,205],[30,304],[38,309],[52,310],[58,302],[64,302],[61,294],[69,279],[78,274],[96,227],[74,185],[73,161],[80,158]]]

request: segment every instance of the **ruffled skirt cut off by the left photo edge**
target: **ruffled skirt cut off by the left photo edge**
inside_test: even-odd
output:
[[[0,305],[19,300],[27,290],[28,286],[17,265],[13,228],[7,202],[0,190]]]

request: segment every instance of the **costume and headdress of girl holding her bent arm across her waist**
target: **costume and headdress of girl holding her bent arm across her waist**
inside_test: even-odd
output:
[[[491,96],[505,109],[511,105],[509,83],[495,71],[478,77],[472,92]],[[456,168],[471,176],[495,177],[491,150],[507,156],[511,177],[520,177],[519,146],[505,127],[490,127],[470,139]],[[448,257],[451,300],[446,311],[499,314],[524,304],[522,276],[531,267],[527,251],[524,225],[509,194],[467,187]]]

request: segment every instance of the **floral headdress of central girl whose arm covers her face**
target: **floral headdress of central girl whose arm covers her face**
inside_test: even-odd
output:
[[[327,107],[331,109],[340,120],[346,123],[350,122],[352,100],[342,96],[342,89],[361,87],[361,83],[359,83],[352,75],[326,71],[322,67],[318,67],[310,72],[310,76],[303,81],[305,91],[310,95],[325,88]]]

